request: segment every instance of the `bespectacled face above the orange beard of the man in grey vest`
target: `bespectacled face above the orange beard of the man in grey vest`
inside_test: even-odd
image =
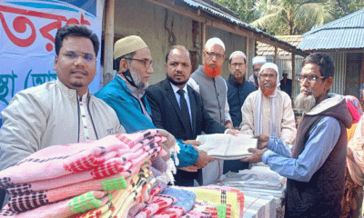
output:
[[[211,68],[217,68],[222,66],[222,64],[224,64],[225,54],[224,54],[224,48],[221,45],[215,44],[206,47],[203,55],[204,55],[204,64],[207,64]]]

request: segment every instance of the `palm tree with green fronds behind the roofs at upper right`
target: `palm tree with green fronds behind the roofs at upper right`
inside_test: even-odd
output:
[[[272,35],[300,35],[334,20],[331,0],[258,0],[250,23]]]

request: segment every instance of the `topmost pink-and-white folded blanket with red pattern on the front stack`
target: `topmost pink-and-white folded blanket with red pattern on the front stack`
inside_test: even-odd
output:
[[[147,137],[149,138],[146,139]],[[143,140],[146,143],[163,142],[166,137],[157,135],[157,130],[147,130],[136,134],[108,135],[91,143],[50,146],[0,172],[0,187],[6,188],[15,183],[52,179],[69,173],[90,170],[114,158],[117,150],[133,149]],[[146,144],[140,146],[144,145]]]

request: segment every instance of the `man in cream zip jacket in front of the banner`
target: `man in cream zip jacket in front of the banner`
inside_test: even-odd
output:
[[[57,31],[56,81],[15,94],[2,111],[1,170],[47,146],[126,133],[114,110],[88,89],[96,75],[98,48],[97,36],[85,25]]]

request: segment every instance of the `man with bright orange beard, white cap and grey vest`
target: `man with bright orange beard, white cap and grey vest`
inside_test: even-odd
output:
[[[220,76],[225,60],[225,45],[214,37],[207,40],[204,64],[191,74],[188,84],[201,94],[207,113],[218,123],[233,128],[227,104],[227,83]]]

